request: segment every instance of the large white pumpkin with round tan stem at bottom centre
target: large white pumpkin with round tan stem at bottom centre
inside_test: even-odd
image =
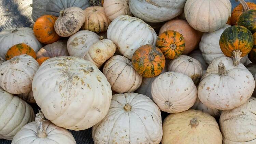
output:
[[[106,117],[93,127],[95,144],[159,144],[161,113],[147,96],[120,93],[113,96]]]

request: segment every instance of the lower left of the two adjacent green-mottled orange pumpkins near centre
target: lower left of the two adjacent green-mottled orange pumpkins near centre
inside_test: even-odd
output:
[[[134,52],[132,65],[143,77],[155,77],[165,67],[165,56],[156,46],[146,44]]]

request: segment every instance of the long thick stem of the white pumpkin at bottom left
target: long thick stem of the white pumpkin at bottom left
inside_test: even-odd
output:
[[[47,134],[44,128],[44,114],[39,110],[39,113],[35,115],[35,123],[37,124],[37,137],[46,138]]]

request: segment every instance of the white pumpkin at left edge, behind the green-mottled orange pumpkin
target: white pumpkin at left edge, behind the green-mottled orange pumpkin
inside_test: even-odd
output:
[[[0,32],[0,57],[5,58],[5,54],[10,47],[15,44],[25,43],[37,52],[41,43],[35,38],[31,28],[17,28]]]

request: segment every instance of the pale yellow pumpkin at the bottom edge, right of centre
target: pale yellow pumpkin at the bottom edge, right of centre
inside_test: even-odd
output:
[[[214,117],[196,110],[170,114],[163,121],[162,144],[222,144]]]

